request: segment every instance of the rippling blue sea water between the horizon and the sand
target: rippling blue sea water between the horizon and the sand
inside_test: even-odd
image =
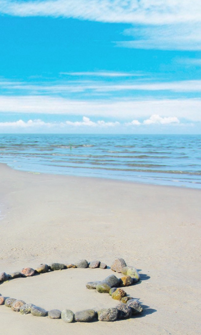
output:
[[[201,188],[201,135],[0,134],[17,170]]]

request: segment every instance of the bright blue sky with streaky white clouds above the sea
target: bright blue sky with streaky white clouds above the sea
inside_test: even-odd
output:
[[[197,0],[0,0],[1,133],[201,134]]]

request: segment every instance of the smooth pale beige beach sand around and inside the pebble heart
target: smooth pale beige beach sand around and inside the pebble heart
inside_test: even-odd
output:
[[[144,312],[117,322],[66,324],[0,306],[1,334],[200,334],[201,191],[32,174],[0,164],[0,272],[41,263],[123,257],[142,281],[126,288]],[[87,290],[111,269],[68,269],[0,285],[0,293],[47,310],[115,307]],[[118,275],[120,277],[120,275]]]

